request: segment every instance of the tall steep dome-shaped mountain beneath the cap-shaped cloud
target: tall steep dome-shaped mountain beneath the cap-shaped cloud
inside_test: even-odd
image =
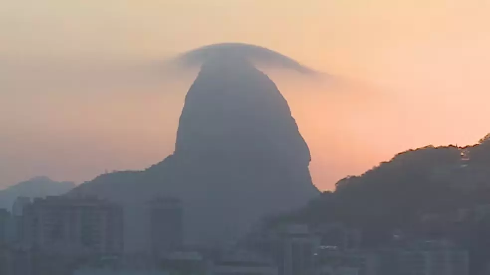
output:
[[[99,195],[130,205],[126,209],[156,195],[179,197],[186,241],[224,244],[262,217],[319,194],[309,162],[308,146],[276,85],[245,57],[227,55],[203,62],[186,95],[171,156],[145,171],[102,175],[70,195]],[[141,216],[137,210],[126,215],[126,239],[142,232]]]

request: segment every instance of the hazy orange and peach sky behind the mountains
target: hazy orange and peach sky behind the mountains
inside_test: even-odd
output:
[[[195,73],[147,71],[207,44],[285,54],[345,85],[267,72],[333,189],[398,152],[490,132],[488,0],[0,0],[0,188],[88,181],[174,149]]]

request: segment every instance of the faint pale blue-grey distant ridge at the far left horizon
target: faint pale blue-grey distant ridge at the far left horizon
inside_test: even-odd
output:
[[[73,182],[56,182],[48,177],[34,177],[0,190],[0,208],[10,210],[19,196],[45,197],[64,194],[75,187]]]

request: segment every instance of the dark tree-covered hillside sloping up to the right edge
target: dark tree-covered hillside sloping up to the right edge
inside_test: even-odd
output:
[[[426,146],[350,176],[306,207],[269,225],[341,223],[361,229],[364,247],[446,238],[470,253],[470,274],[484,274],[490,255],[490,135],[466,147]],[[399,233],[397,233],[399,234]]]

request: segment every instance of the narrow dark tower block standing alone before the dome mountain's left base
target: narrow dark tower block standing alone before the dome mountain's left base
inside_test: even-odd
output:
[[[183,245],[183,209],[178,198],[158,197],[149,202],[149,230],[151,252],[178,250]]]

